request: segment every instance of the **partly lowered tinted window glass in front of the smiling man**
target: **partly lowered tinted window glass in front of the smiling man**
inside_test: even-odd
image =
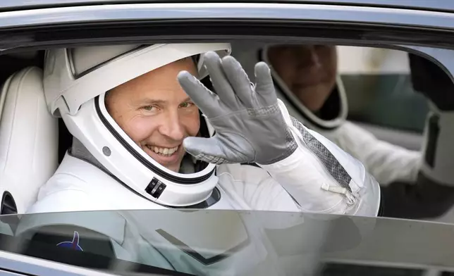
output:
[[[117,219],[123,221],[122,235],[112,228]],[[81,226],[90,220],[99,224]],[[0,234],[0,251],[118,275],[423,275],[429,267],[454,270],[452,258],[443,258],[454,253],[453,246],[446,246],[452,226],[436,222],[183,209],[43,213],[9,221],[18,232],[15,237]],[[214,227],[221,231],[209,231]],[[90,243],[114,246],[106,254]]]

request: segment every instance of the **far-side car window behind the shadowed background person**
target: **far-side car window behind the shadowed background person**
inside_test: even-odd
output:
[[[407,52],[359,46],[339,46],[338,51],[350,120],[423,132],[429,106],[412,87]]]

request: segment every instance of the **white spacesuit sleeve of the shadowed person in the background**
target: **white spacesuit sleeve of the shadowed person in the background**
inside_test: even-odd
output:
[[[421,153],[376,139],[361,127],[346,122],[334,139],[341,149],[355,156],[380,184],[415,182],[421,167]]]

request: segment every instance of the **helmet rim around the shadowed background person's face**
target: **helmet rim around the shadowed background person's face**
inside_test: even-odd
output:
[[[274,45],[271,45],[274,46]],[[348,103],[347,96],[345,95],[345,89],[343,87],[343,82],[340,80],[340,76],[336,77],[336,86],[333,93],[330,94],[324,106],[321,107],[320,111],[316,114],[309,110],[298,98],[293,94],[291,89],[287,84],[282,80],[276,70],[273,69],[272,63],[268,58],[268,49],[270,45],[264,46],[261,51],[259,51],[259,59],[266,62],[271,67],[271,75],[274,80],[275,86],[280,90],[280,92],[288,99],[299,113],[303,117],[303,122],[308,127],[317,127],[322,130],[333,130],[336,127],[342,125],[348,115]]]

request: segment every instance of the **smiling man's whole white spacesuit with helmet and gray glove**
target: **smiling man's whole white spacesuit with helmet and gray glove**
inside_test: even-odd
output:
[[[143,227],[134,221],[149,220],[148,216],[121,210],[197,208],[377,215],[379,184],[359,161],[288,115],[286,107],[276,98],[266,65],[257,66],[257,83],[251,86],[233,58],[222,59],[222,64],[230,64],[230,68],[226,65],[216,68],[221,59],[214,51],[226,56],[230,45],[154,44],[48,51],[44,67],[47,104],[51,113],[63,118],[74,140],[58,170],[40,189],[37,202],[27,213],[114,210],[118,211],[118,216],[111,215],[112,225],[124,226],[127,220],[130,229],[118,231],[109,223],[97,223],[94,218],[54,213],[42,214],[42,220],[37,215],[32,220],[23,219],[18,233],[32,237],[49,225],[76,225],[109,237],[118,258],[129,254],[124,258],[197,275],[238,275],[271,258],[260,236],[247,236],[259,230],[251,230],[251,225],[240,215],[229,217],[231,230],[238,230],[231,237],[235,241],[221,242],[223,247],[214,247],[225,251],[244,239],[249,241],[247,245],[242,244],[241,250],[229,258],[205,255],[199,258],[198,253],[196,258],[194,254],[175,250],[168,253],[155,246],[171,240],[155,229],[171,233],[171,237],[191,248],[197,247],[200,239],[219,242],[193,227],[183,230],[184,221],[190,221],[190,214],[182,213],[180,220],[173,222],[152,220],[152,225]],[[197,158],[190,154],[185,156],[188,162],[183,164],[189,163],[192,172],[173,172],[154,161],[125,134],[106,110],[104,96],[124,82],[190,56],[197,62],[200,79],[208,70],[219,97],[202,87],[189,73],[178,75],[185,92],[204,113],[200,129],[204,137],[185,139],[185,149]],[[216,71],[222,69],[225,74]],[[225,75],[229,74],[236,74],[238,79],[227,79]],[[246,86],[242,83],[245,80]],[[232,106],[223,98],[227,93],[242,101]],[[219,106],[209,106],[207,99],[216,100]],[[247,99],[251,102],[247,103]],[[234,146],[235,151],[231,150]],[[273,228],[289,227],[292,223],[264,224]],[[73,242],[82,241],[80,232],[83,231],[78,231],[77,237],[72,230],[68,232]],[[147,260],[131,256],[130,249],[134,246],[125,242],[126,232],[135,237],[128,239],[139,248],[133,251],[147,251],[141,255],[149,256]],[[204,234],[200,237],[197,233]],[[219,233],[213,234],[219,237]],[[140,245],[137,240],[142,241],[138,242]],[[273,267],[277,269],[271,265]],[[229,272],[221,273],[221,268],[229,268]]]

